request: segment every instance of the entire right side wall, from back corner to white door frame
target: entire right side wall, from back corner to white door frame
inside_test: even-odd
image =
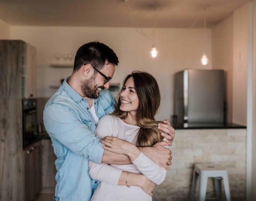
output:
[[[246,125],[248,3],[212,28],[212,60],[226,72],[228,122]]]

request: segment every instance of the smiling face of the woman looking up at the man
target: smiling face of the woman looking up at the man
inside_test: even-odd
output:
[[[120,93],[120,110],[131,112],[137,111],[139,107],[139,97],[134,88],[133,77],[130,77],[124,84]]]

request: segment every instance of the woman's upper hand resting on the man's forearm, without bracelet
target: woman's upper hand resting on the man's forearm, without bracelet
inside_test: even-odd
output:
[[[135,145],[117,137],[106,136],[101,140],[101,142],[106,145],[102,145],[103,149],[118,154],[125,154],[129,156],[132,161],[140,155],[140,150]]]

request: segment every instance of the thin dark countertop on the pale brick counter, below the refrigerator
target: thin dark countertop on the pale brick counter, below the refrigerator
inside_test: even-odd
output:
[[[239,124],[192,124],[189,123],[187,125],[176,124],[172,125],[174,129],[246,129],[246,126]]]

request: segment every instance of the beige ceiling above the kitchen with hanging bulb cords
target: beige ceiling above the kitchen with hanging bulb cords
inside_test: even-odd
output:
[[[0,0],[0,19],[20,26],[211,27],[249,0]]]

